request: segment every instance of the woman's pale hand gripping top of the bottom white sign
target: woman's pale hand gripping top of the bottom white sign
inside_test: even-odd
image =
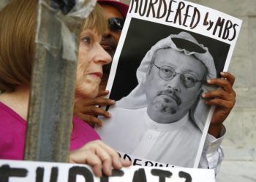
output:
[[[111,175],[112,169],[120,170],[132,164],[129,160],[121,159],[116,151],[102,141],[91,141],[80,149],[70,151],[69,162],[90,165],[94,175],[101,177]]]

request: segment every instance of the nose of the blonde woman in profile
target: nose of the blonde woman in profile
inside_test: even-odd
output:
[[[95,50],[96,54],[94,57],[94,61],[97,63],[101,63],[102,65],[107,65],[111,62],[112,58],[106,52],[100,44],[97,44],[97,49]]]

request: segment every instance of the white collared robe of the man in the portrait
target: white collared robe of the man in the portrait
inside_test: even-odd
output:
[[[97,128],[102,141],[135,157],[181,167],[193,167],[202,133],[189,121],[159,124],[148,117],[147,108],[113,107],[112,117]]]

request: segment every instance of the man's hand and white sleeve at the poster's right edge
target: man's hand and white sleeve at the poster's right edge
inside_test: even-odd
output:
[[[208,99],[206,104],[216,106],[216,108],[211,118],[199,165],[201,168],[214,169],[216,174],[219,172],[220,164],[224,158],[224,153],[220,147],[226,132],[223,122],[236,103],[236,92],[232,88],[235,77],[228,72],[222,72],[221,75],[221,79],[211,79],[208,82],[208,84],[219,86],[219,89],[203,95],[203,98]]]

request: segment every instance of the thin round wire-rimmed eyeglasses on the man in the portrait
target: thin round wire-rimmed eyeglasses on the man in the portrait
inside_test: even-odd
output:
[[[154,63],[153,65],[159,69],[159,76],[163,80],[171,80],[173,79],[174,76],[176,76],[176,74],[179,74],[170,66],[159,67]],[[203,80],[197,80],[197,77],[193,74],[179,74],[179,75],[181,75],[181,82],[187,88],[194,87],[197,82],[203,82]]]

